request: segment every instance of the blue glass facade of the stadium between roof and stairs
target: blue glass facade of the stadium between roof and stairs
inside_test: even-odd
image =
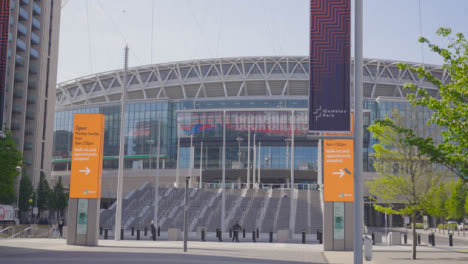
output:
[[[161,167],[177,167],[177,135],[180,138],[179,168],[203,169],[222,167],[223,125],[226,126],[226,168],[246,169],[250,151],[253,164],[255,137],[257,162],[262,169],[290,169],[291,124],[294,109],[294,168],[316,173],[318,147],[316,140],[306,138],[308,114],[304,99],[271,100],[205,100],[132,102],[126,108],[125,168],[156,167],[158,125],[161,124]],[[399,110],[409,124],[417,122],[429,133],[435,127],[426,126],[430,112],[412,108],[405,101],[364,101],[364,170],[373,171],[373,145],[377,142],[367,130],[375,119],[382,119]],[[251,110],[249,110],[251,108]],[[223,110],[225,117],[223,118]],[[54,131],[54,170],[69,170],[72,146],[73,114],[102,113],[105,115],[104,169],[118,168],[120,104],[89,106],[57,111]],[[159,118],[161,117],[161,118]],[[411,118],[410,118],[411,117]],[[250,131],[250,133],[249,133]],[[248,135],[250,134],[250,147]],[[440,134],[440,133],[439,133]],[[201,145],[203,142],[203,149]],[[193,149],[193,155],[191,155]]]

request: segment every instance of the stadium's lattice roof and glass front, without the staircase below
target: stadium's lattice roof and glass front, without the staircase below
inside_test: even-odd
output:
[[[446,81],[441,67],[425,67]],[[204,184],[216,185],[222,172],[223,127],[228,185],[253,183],[254,179],[257,184],[287,185],[291,173],[299,188],[320,182],[318,141],[307,137],[308,69],[306,56],[219,58],[129,69],[124,192],[153,181],[158,159],[161,184],[173,185],[186,176],[197,184],[202,175]],[[432,95],[438,93],[430,82],[400,70],[396,61],[365,59],[363,74],[366,127],[394,109],[403,115],[409,112],[404,83],[417,83]],[[73,114],[102,113],[102,195],[115,197],[123,76],[124,72],[117,70],[58,85],[52,182],[59,176],[65,184],[69,182]],[[418,111],[420,122],[429,118],[427,110]],[[374,143],[365,132],[365,177],[373,174]],[[247,170],[253,166],[255,172]]]

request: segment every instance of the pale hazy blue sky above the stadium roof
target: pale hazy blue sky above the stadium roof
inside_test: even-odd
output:
[[[309,52],[310,0],[62,1],[58,83],[122,68],[126,44],[130,67]],[[441,26],[468,36],[467,0],[363,1],[365,58],[440,65],[419,36],[446,44]]]

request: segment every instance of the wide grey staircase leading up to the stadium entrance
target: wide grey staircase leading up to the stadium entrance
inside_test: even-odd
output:
[[[158,223],[161,230],[182,229],[184,189],[160,188]],[[190,189],[188,199],[189,231],[201,227],[209,232],[221,225],[221,189]],[[293,208],[291,208],[291,199]],[[101,209],[100,226],[113,229],[115,203]],[[289,189],[229,189],[226,190],[226,229],[239,223],[246,231],[276,232],[293,227],[295,233],[322,230],[320,193],[314,190]],[[293,213],[290,225],[289,214]],[[122,201],[122,228],[149,228],[154,217],[154,186],[148,182],[129,192]]]

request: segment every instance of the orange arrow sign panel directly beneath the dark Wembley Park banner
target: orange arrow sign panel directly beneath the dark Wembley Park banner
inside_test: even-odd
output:
[[[354,202],[352,139],[323,140],[323,187],[326,202]]]

